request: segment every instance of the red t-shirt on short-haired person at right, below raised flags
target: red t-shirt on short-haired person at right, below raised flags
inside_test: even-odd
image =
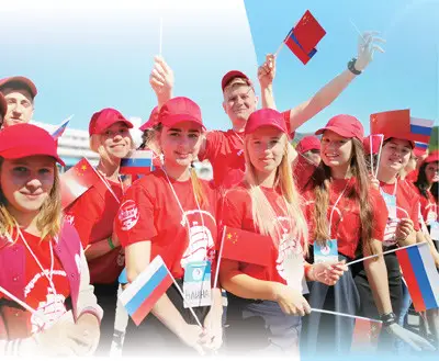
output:
[[[387,184],[380,181],[381,191],[386,194],[394,194],[396,185],[396,218],[390,215],[384,234],[384,246],[396,244],[396,227],[402,218],[410,218],[416,232],[419,230],[419,195],[406,181],[397,180],[396,183]]]

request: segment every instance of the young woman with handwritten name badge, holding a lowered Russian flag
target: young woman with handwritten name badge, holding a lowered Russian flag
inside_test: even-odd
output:
[[[215,274],[216,192],[191,169],[205,132],[200,108],[188,98],[173,98],[161,106],[159,122],[157,139],[165,156],[164,167],[127,190],[115,229],[125,247],[128,282],[160,256],[181,287],[191,277],[187,270],[194,262],[211,264],[211,274]],[[185,292],[189,284],[182,289]],[[221,292],[211,290],[210,284],[200,294],[207,293],[212,293],[212,301],[195,297],[200,306],[193,307],[204,329],[171,285],[138,327],[130,320],[123,353],[183,356],[218,348]]]

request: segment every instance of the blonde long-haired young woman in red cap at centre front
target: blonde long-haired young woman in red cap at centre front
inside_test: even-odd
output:
[[[221,260],[221,283],[228,292],[226,347],[232,353],[299,357],[301,316],[311,312],[302,295],[303,278],[306,273],[309,281],[333,285],[344,266],[304,263],[307,225],[282,114],[270,109],[254,112],[244,144],[245,181],[226,192],[223,224],[270,236],[272,245],[268,266]]]

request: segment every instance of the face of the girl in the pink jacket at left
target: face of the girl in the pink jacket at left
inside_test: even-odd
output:
[[[55,181],[55,159],[32,156],[4,159],[0,185],[12,213],[37,213],[47,200]]]

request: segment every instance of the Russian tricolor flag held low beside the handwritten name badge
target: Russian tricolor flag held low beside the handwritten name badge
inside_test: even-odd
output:
[[[162,258],[157,256],[119,298],[138,326],[171,284],[172,277]]]

